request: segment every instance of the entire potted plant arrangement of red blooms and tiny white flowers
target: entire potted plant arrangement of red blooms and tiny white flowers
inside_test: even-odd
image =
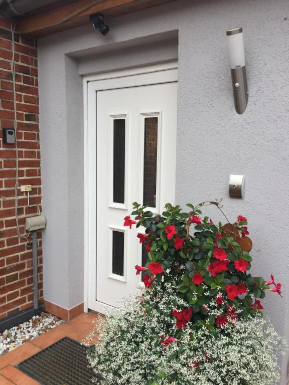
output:
[[[250,274],[252,247],[247,219],[215,224],[201,218],[205,202],[190,212],[166,205],[154,216],[133,204],[124,225],[145,227],[138,234],[148,252],[146,290],[125,298],[108,317],[99,317],[99,343],[89,362],[101,385],[273,385],[278,354],[285,347],[262,318],[269,281]]]

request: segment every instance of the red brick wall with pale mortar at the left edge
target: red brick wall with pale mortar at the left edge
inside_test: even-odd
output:
[[[31,184],[30,204],[41,205],[36,41],[16,35],[15,51],[19,185]],[[32,249],[16,231],[16,150],[15,145],[2,141],[2,129],[14,127],[11,68],[10,22],[0,16],[0,318],[33,305]],[[20,188],[18,196],[20,232],[23,234],[25,217],[37,214],[37,208],[27,206],[27,196],[20,192]],[[41,232],[38,232],[40,301],[43,300],[41,247]]]

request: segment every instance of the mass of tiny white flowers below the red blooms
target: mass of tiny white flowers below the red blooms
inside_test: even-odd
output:
[[[203,327],[180,332],[172,310],[188,304],[176,294],[146,291],[125,299],[96,325],[99,343],[88,358],[99,385],[273,385],[283,339],[261,318],[227,323],[215,335]],[[146,306],[143,306],[146,304]],[[148,305],[149,304],[149,305]],[[217,314],[216,307],[211,312]],[[211,306],[210,306],[211,307]],[[164,338],[177,337],[164,344]]]

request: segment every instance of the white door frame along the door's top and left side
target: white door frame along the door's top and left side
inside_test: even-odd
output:
[[[150,74],[150,76],[146,76]],[[89,274],[89,261],[94,261],[92,266],[96,271],[96,113],[89,115],[89,111],[96,110],[94,98],[89,99],[89,83],[97,81],[95,91],[113,88],[126,88],[132,86],[145,86],[148,84],[161,84],[178,81],[178,62],[168,62],[143,66],[97,75],[88,75],[83,78],[83,104],[84,104],[84,312],[88,311],[89,286],[96,282]],[[93,106],[94,104],[94,106]],[[103,313],[105,307],[98,302],[97,311]]]

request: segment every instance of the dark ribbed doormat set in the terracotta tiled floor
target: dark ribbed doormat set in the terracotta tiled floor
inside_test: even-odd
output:
[[[64,337],[15,367],[41,385],[91,385],[86,354],[86,346]]]

